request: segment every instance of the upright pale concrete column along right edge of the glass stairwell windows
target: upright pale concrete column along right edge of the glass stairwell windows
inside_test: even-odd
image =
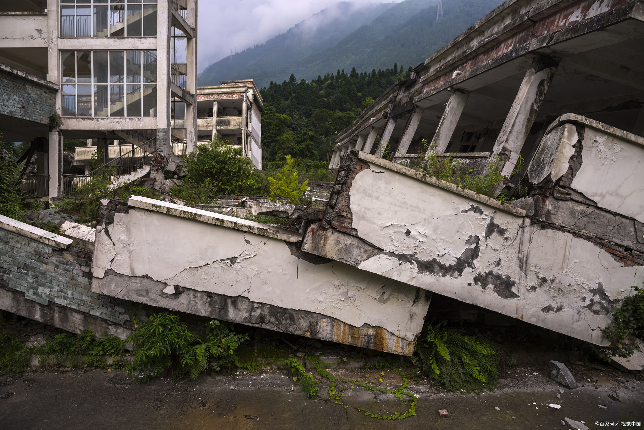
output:
[[[170,28],[169,0],[158,2],[156,15],[156,150],[169,155],[172,145],[170,108]],[[161,172],[163,174],[163,172]],[[163,180],[163,179],[161,179]]]

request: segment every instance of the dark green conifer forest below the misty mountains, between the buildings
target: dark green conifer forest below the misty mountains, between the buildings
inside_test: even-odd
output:
[[[351,124],[393,83],[411,73],[398,68],[350,73],[337,70],[311,82],[294,75],[281,84],[271,82],[261,89],[265,110],[261,117],[263,159],[328,161],[337,132]]]

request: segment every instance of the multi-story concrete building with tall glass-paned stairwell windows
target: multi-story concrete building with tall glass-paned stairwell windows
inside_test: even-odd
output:
[[[37,142],[48,197],[64,137],[172,155],[171,99],[196,143],[197,0],[15,0],[0,5],[0,130]],[[175,133],[176,134],[176,133]],[[109,151],[105,151],[109,153]]]

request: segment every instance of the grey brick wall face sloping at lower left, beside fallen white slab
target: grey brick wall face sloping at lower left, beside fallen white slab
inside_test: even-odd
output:
[[[58,249],[0,229],[0,287],[23,291],[24,297],[55,302],[124,324],[125,309],[90,291],[91,255],[79,248]],[[125,318],[123,318],[125,317]]]

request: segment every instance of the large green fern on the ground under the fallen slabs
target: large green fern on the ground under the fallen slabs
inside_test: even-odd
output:
[[[450,391],[478,392],[498,383],[498,369],[505,357],[482,337],[462,335],[442,324],[427,324],[412,362],[417,373]]]

